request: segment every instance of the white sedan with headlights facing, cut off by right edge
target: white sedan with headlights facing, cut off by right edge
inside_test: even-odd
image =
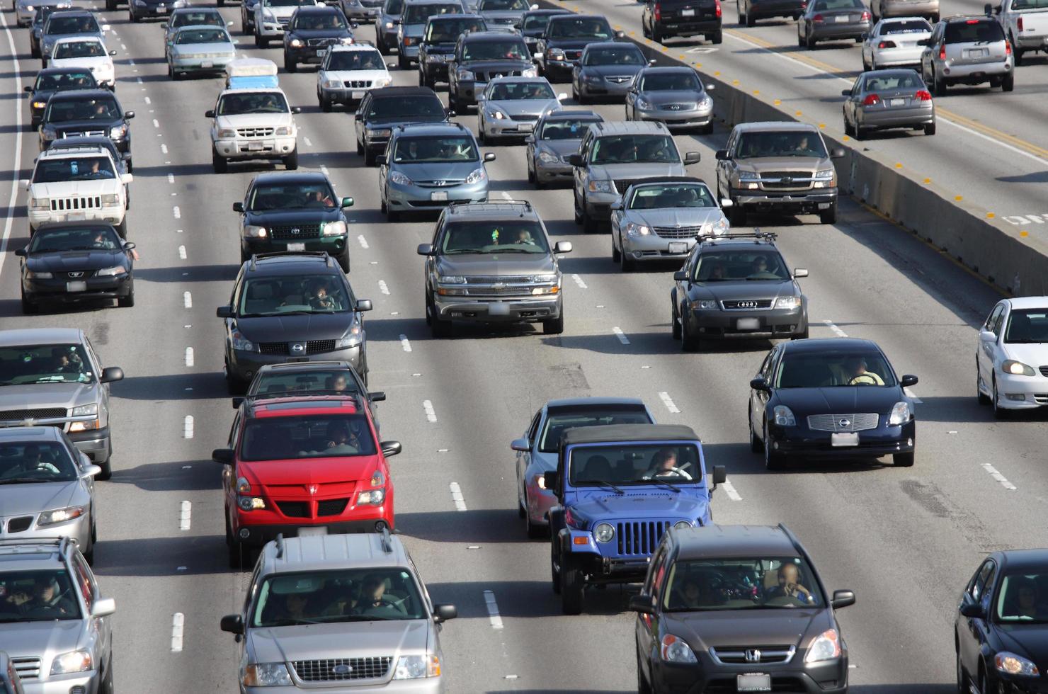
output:
[[[981,405],[1009,410],[1048,405],[1048,297],[1002,299],[979,329],[976,384]]]

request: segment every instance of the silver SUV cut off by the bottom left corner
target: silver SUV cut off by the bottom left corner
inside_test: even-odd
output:
[[[0,540],[0,651],[27,694],[112,694],[116,603],[75,543]]]

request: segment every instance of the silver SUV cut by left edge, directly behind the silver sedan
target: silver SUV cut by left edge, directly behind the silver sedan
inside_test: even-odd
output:
[[[109,384],[123,377],[79,328],[0,331],[0,427],[60,427],[109,479]]]

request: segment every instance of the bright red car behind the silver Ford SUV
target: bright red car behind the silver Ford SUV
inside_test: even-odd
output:
[[[222,463],[230,565],[244,549],[285,537],[392,530],[393,480],[359,394],[264,396],[240,406]]]

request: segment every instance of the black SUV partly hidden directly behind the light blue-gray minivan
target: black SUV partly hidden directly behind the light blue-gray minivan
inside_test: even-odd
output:
[[[375,157],[386,152],[393,128],[408,123],[447,123],[455,113],[445,109],[429,87],[383,87],[364,95],[355,115],[356,153],[371,167]]]

